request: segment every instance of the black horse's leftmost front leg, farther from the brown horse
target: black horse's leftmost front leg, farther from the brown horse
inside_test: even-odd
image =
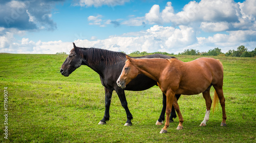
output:
[[[113,90],[109,90],[105,88],[105,113],[102,120],[100,120],[99,125],[106,124],[106,121],[110,120],[110,103],[112,97]]]

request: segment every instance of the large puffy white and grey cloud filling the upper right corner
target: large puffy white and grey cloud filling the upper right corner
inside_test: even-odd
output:
[[[122,24],[142,25],[172,23],[173,25],[194,25],[205,32],[220,32],[232,30],[256,30],[256,1],[246,0],[235,3],[232,0],[204,0],[197,3],[191,1],[182,11],[175,13],[171,2],[160,11],[159,5],[154,5],[144,17],[130,19]]]

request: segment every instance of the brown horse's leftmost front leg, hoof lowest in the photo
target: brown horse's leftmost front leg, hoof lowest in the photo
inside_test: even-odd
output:
[[[172,111],[172,106],[175,98],[175,93],[173,91],[166,92],[166,122],[160,133],[167,133],[167,128],[169,127],[170,112]],[[176,100],[177,101],[177,100]]]

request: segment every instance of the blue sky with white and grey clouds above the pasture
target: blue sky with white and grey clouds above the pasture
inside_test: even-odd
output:
[[[0,52],[222,52],[256,47],[256,1],[26,0],[0,2]]]

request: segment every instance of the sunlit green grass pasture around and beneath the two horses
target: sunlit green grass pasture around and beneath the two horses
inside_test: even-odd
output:
[[[158,87],[126,91],[133,126],[123,126],[126,114],[114,92],[111,119],[98,125],[104,115],[104,89],[99,75],[81,66],[69,77],[59,73],[67,55],[0,54],[2,115],[1,142],[255,142],[256,59],[214,56],[224,66],[224,96],[227,126],[221,127],[222,112],[212,114],[206,127],[203,96],[182,95],[178,103],[184,129],[178,119],[166,134],[156,126],[162,95]],[[178,56],[184,62],[200,56]],[[4,138],[4,87],[8,87],[8,139]],[[213,96],[213,88],[211,96]]]

